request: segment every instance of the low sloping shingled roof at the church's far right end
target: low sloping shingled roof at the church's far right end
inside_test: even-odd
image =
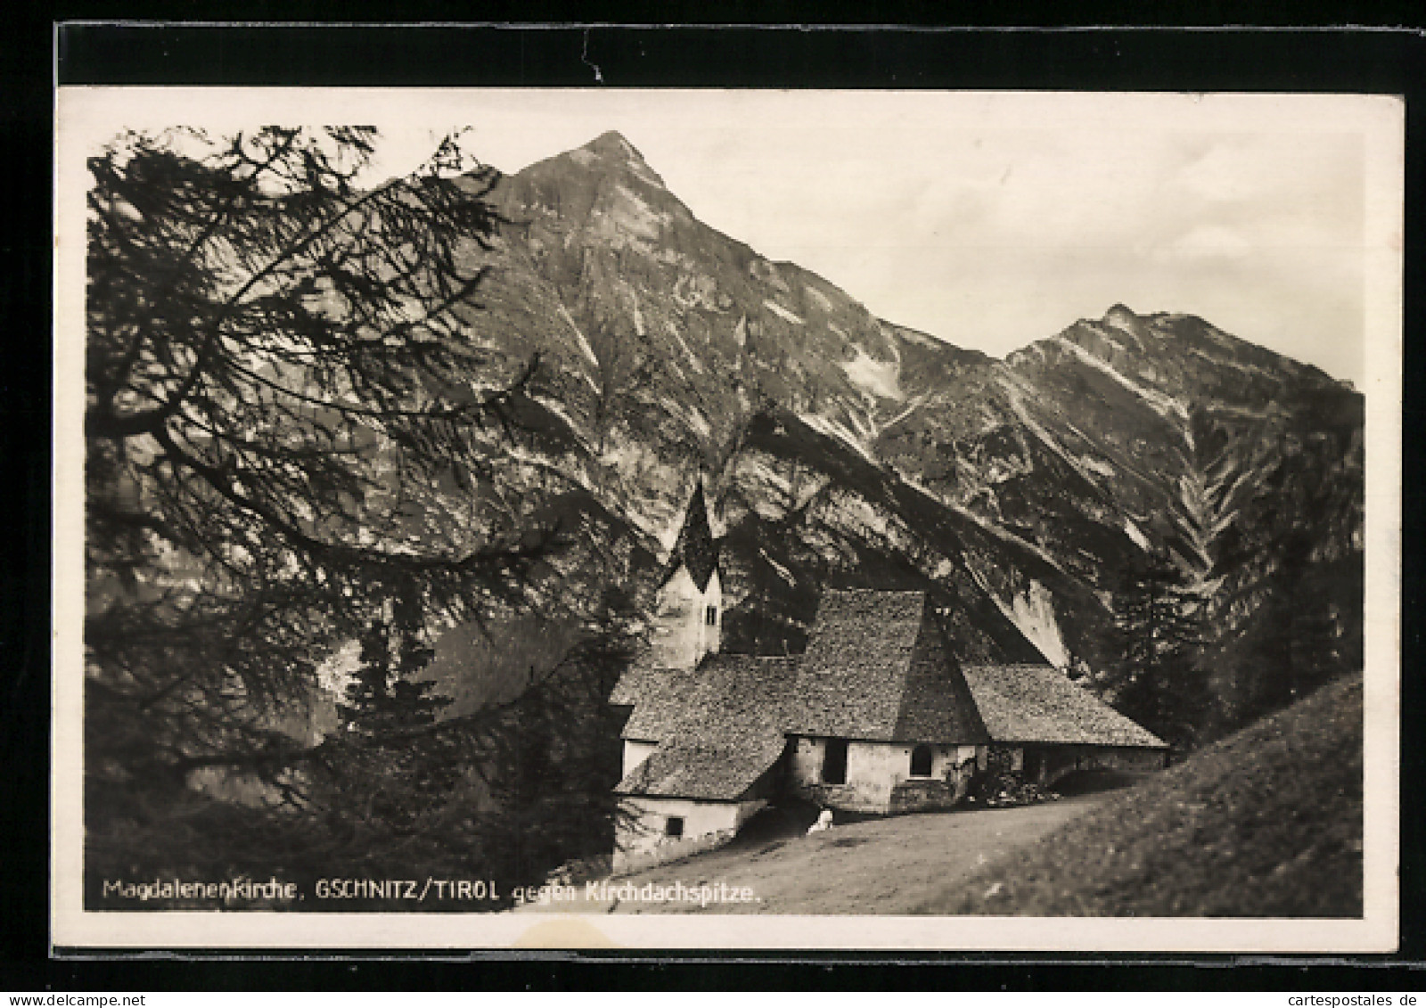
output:
[[[961,673],[995,741],[1168,747],[1052,666],[973,664]]]

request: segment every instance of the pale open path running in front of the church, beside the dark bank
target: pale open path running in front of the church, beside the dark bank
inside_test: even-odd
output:
[[[652,883],[752,890],[752,902],[653,902],[586,898],[526,905],[522,911],[599,912],[754,912],[900,914],[928,891],[968,875],[987,861],[1034,843],[1045,833],[1099,806],[1108,794],[1084,794],[1018,808],[896,816],[838,826],[827,833],[733,845],[679,864],[616,878],[613,887],[642,890]],[[626,890],[627,893],[627,890]],[[597,897],[597,893],[596,893]]]

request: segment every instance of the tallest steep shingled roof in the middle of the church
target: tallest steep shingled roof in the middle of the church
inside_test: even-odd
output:
[[[924,592],[829,590],[787,730],[870,741],[988,741]]]

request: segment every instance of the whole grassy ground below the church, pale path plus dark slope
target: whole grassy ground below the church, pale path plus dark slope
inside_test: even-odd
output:
[[[1362,680],[1330,683],[1131,788],[838,823],[803,835],[814,814],[770,811],[722,850],[617,880],[746,885],[754,904],[700,911],[580,898],[526,910],[1359,915]]]

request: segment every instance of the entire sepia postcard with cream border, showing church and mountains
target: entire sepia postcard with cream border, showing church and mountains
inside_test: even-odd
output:
[[[1402,131],[60,88],[56,942],[1392,950]]]

